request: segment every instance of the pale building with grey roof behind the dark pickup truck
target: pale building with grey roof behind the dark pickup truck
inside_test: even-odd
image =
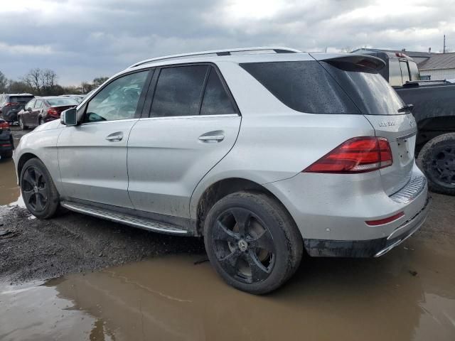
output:
[[[417,66],[420,75],[429,80],[455,80],[455,53],[433,53]]]

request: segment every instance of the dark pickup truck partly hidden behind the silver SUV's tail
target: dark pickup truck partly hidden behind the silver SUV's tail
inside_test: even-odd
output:
[[[420,79],[417,64],[404,53],[363,52],[384,60],[381,75],[417,121],[415,156],[435,192],[455,195],[455,84]]]

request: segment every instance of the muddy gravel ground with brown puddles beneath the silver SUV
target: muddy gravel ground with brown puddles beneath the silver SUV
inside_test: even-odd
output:
[[[422,229],[385,256],[306,258],[257,297],[200,263],[201,239],[36,220],[15,180],[0,161],[0,340],[455,340],[455,197],[432,194]]]

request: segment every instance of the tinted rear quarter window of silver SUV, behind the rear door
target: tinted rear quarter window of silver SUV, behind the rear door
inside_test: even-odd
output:
[[[291,109],[311,114],[359,114],[353,101],[316,60],[240,66]]]

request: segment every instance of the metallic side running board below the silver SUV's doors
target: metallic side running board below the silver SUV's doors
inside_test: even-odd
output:
[[[166,222],[157,222],[155,220],[149,220],[143,217],[136,217],[134,215],[113,212],[111,210],[105,210],[104,208],[100,207],[93,207],[90,205],[84,205],[69,201],[60,202],[60,205],[74,212],[83,213],[85,215],[92,215],[93,217],[110,220],[112,222],[119,222],[120,224],[125,224],[132,227],[139,227],[140,229],[147,229],[153,232],[178,235],[188,234],[188,231],[176,227],[173,224],[168,224]]]

